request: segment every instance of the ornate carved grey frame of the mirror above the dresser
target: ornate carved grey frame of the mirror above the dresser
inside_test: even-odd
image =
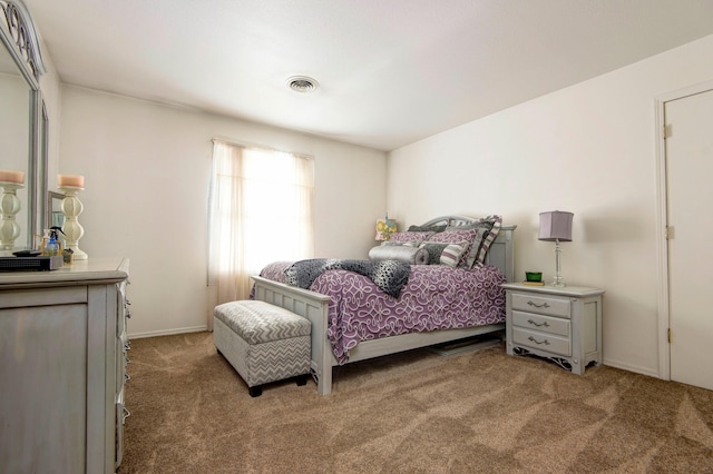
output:
[[[45,196],[47,195],[48,120],[39,80],[46,69],[35,22],[22,0],[0,0],[0,10],[2,11],[0,41],[31,90],[27,169],[29,228],[23,246],[33,248],[35,235],[45,224]]]

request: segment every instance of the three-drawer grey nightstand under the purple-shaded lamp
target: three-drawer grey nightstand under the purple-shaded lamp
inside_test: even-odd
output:
[[[602,364],[603,289],[521,283],[502,287],[509,355],[546,357],[579,375],[589,363]]]

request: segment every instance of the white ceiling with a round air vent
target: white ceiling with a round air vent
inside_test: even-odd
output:
[[[25,2],[65,83],[382,150],[713,33],[711,0]]]

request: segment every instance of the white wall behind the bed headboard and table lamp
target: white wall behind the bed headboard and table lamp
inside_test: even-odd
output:
[[[406,224],[500,214],[518,226],[516,275],[547,278],[538,214],[574,213],[563,274],[606,289],[604,363],[658,375],[654,99],[713,79],[711,57],[713,36],[394,150],[389,209]]]

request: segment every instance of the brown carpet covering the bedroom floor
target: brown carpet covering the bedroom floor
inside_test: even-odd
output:
[[[126,473],[713,473],[713,392],[501,345],[339,367],[251,398],[212,333],[135,339]]]

